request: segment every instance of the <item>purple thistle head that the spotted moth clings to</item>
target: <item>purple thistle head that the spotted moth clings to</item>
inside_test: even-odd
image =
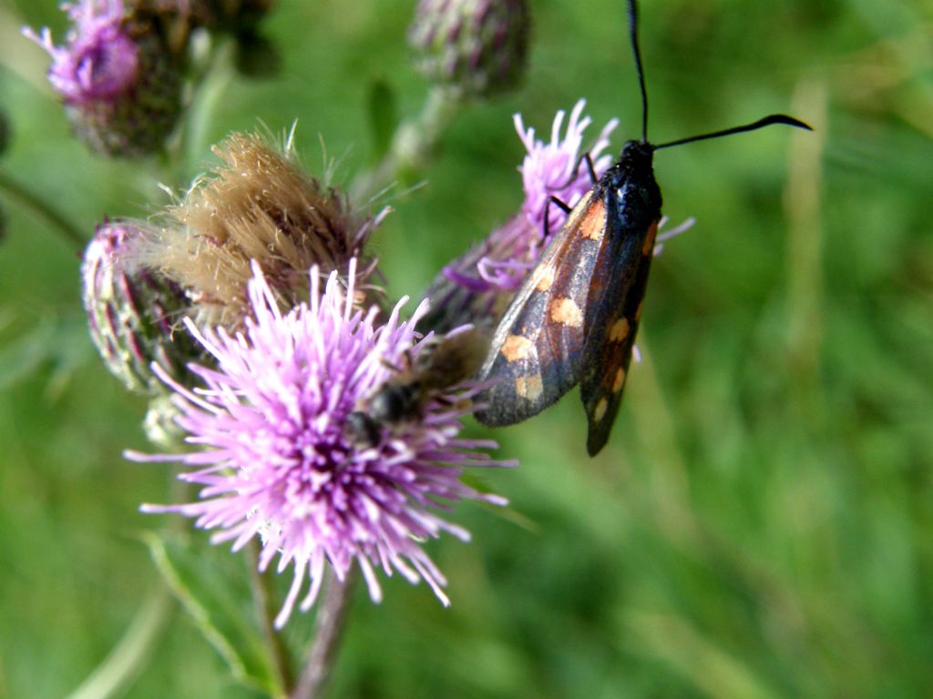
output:
[[[463,322],[492,320],[518,289],[528,270],[536,265],[545,240],[545,217],[548,231],[560,230],[566,213],[548,206],[551,196],[573,207],[592,187],[590,173],[580,158],[584,132],[592,123],[583,116],[584,100],[574,105],[564,130],[564,110],[557,113],[550,130],[550,142],[536,139],[533,128],[526,129],[521,115],[515,115],[518,131],[527,153],[522,162],[524,201],[521,210],[497,227],[479,245],[444,267],[426,295],[437,299],[432,311],[432,327],[447,329]],[[597,176],[612,164],[604,151],[609,134],[618,125],[612,119],[599,132],[589,149]]]

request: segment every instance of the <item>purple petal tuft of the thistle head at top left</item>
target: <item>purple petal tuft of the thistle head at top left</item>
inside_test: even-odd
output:
[[[82,0],[62,8],[75,23],[64,46],[52,43],[48,27],[41,35],[23,29],[49,51],[52,87],[66,103],[112,99],[130,89],[136,80],[139,48],[123,29],[122,0]]]

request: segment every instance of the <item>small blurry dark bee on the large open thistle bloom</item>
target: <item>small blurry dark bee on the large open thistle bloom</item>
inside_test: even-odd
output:
[[[390,366],[395,375],[347,417],[350,437],[374,446],[383,429],[421,418],[426,404],[476,374],[488,348],[489,336],[469,325],[426,339],[417,353],[404,355],[402,366]]]

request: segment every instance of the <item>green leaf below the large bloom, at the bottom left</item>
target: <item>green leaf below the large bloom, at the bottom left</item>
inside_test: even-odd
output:
[[[284,690],[278,686],[255,623],[242,557],[208,546],[202,538],[146,533],[143,539],[169,589],[233,676],[280,696]]]

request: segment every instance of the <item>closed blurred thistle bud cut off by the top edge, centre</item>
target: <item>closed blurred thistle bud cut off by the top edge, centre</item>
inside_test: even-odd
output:
[[[487,97],[522,77],[530,27],[526,0],[421,0],[409,44],[428,80]]]

